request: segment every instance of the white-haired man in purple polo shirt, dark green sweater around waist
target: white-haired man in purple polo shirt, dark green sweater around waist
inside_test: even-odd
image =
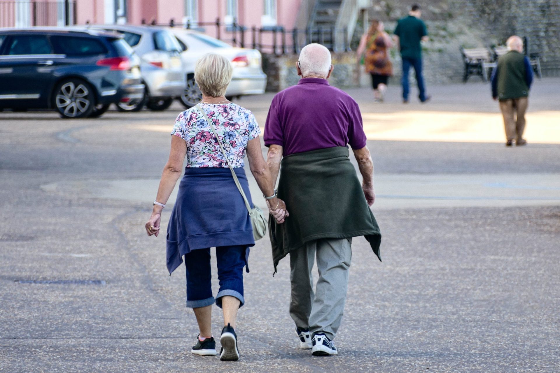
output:
[[[370,208],[374,165],[358,104],[327,79],[333,72],[323,45],[306,45],[297,62],[301,79],[274,96],[264,129],[268,165],[290,217],[270,220],[274,270],[290,255],[290,315],[300,348],[337,355],[333,339],[342,321],[352,237],[365,236],[380,257],[381,234]],[[362,185],[349,159],[353,149]],[[283,157],[283,159],[282,159]],[[319,280],[311,270],[317,258]]]

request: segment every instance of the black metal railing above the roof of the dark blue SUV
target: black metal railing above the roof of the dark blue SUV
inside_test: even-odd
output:
[[[76,0],[0,1],[0,27],[69,26],[76,23]]]

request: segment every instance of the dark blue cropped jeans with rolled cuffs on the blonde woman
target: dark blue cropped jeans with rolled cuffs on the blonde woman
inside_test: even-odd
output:
[[[222,296],[230,295],[245,303],[243,298],[243,267],[247,265],[246,246],[223,246],[216,248],[218,282],[220,290],[216,299],[212,296],[212,267],[210,248],[197,249],[185,254],[186,306],[206,307],[216,302],[222,308]],[[249,272],[249,270],[247,270]]]

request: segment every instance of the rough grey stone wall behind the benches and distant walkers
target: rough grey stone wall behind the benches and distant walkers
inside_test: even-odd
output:
[[[511,35],[526,36],[529,53],[539,53],[543,75],[560,75],[560,0],[430,0],[417,1],[422,8],[430,41],[423,45],[424,78],[429,84],[461,82],[464,48],[503,45]],[[373,2],[368,17],[385,21],[392,34],[396,20],[408,12],[409,0]],[[358,21],[353,48],[363,29]],[[400,55],[391,50],[394,76],[391,85],[400,81]],[[296,84],[297,55],[263,55],[268,74],[268,91],[277,92]],[[335,70],[329,82],[339,88],[366,87],[370,78],[356,64],[355,53],[333,53]],[[413,74],[412,74],[413,76]],[[413,79],[413,78],[412,78]],[[480,77],[470,77],[469,81]]]

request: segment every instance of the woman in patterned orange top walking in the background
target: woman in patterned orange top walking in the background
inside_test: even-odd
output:
[[[370,29],[362,36],[358,47],[358,59],[363,57],[366,72],[371,74],[376,102],[382,102],[387,90],[389,77],[393,75],[393,64],[389,49],[393,47],[391,37],[385,32],[383,22],[373,20]]]

